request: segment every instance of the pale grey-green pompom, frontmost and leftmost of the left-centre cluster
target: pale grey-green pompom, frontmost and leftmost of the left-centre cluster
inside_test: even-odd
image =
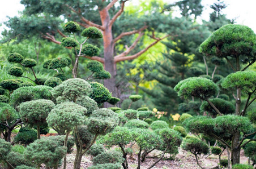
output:
[[[75,126],[83,124],[86,120],[84,114],[87,109],[75,103],[66,102],[55,106],[49,113],[46,121],[50,127],[59,130],[71,131]]]

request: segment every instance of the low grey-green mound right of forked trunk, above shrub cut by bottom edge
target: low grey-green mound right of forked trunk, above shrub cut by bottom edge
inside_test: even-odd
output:
[[[106,163],[122,163],[124,159],[121,152],[108,151],[97,155],[92,159],[93,165],[95,164],[106,164]]]

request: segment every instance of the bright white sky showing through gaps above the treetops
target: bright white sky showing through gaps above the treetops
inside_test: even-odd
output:
[[[137,1],[138,0],[131,0]],[[164,0],[166,2],[175,2],[174,0]],[[256,1],[255,0],[221,0],[228,6],[223,10],[223,14],[227,15],[228,19],[236,19],[236,24],[249,26],[256,33]],[[6,16],[14,17],[19,16],[19,11],[24,9],[21,5],[20,0],[0,0],[0,32],[3,31],[5,25],[4,21],[7,21]],[[202,5],[204,6],[203,14],[201,18],[204,20],[209,19],[209,14],[212,12],[210,5],[212,5],[216,0],[202,0]]]

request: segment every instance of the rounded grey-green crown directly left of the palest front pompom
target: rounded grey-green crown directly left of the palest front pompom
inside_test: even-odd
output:
[[[26,101],[19,105],[20,118],[25,124],[41,125],[46,122],[46,117],[54,108],[55,104],[51,100],[39,99]]]

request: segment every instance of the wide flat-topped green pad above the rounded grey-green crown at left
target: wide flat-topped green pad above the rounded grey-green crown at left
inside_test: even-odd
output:
[[[11,94],[11,105],[16,109],[25,101],[46,99],[53,100],[52,87],[48,86],[29,86],[20,87]]]

